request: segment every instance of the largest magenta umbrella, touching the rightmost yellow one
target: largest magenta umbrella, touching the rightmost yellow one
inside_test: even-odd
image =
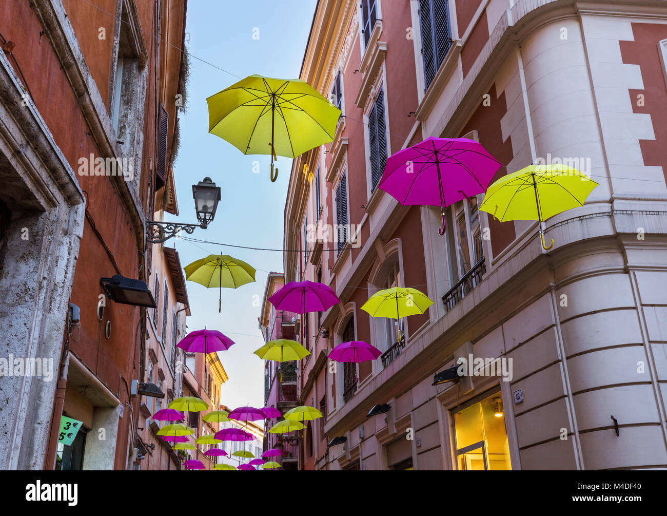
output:
[[[502,164],[468,138],[426,138],[390,156],[380,188],[403,206],[440,206],[442,235],[445,208],[486,192]]]

